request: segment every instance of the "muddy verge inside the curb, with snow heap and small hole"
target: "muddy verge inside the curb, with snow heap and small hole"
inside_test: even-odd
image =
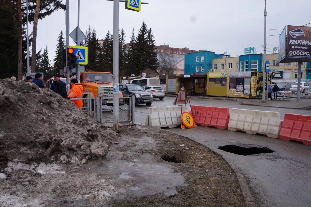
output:
[[[140,125],[116,134],[24,82],[0,80],[0,206],[244,206],[205,146]]]

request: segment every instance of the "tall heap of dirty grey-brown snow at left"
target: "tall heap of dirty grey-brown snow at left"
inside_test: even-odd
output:
[[[0,79],[0,171],[9,161],[86,163],[118,139],[71,101],[26,81]]]

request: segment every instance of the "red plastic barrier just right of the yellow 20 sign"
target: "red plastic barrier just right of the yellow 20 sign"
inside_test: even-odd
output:
[[[202,127],[228,129],[230,119],[229,108],[210,106],[191,106],[194,122]]]

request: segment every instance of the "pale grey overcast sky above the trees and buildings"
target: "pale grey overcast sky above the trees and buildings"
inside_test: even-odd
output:
[[[188,47],[192,50],[228,52],[231,57],[244,54],[244,48],[255,47],[263,53],[264,0],[144,0],[141,11],[125,9],[119,2],[119,28],[124,29],[130,41],[145,21],[155,36],[156,45]],[[63,0],[65,3],[65,0]],[[70,29],[77,26],[78,0],[70,1]],[[311,23],[311,1],[267,0],[267,36],[280,34],[285,25]],[[89,25],[95,28],[97,38],[113,32],[113,2],[80,0],[80,29],[85,33]],[[306,26],[311,26],[306,25]],[[32,31],[30,25],[30,32]],[[38,22],[37,52],[48,46],[50,60],[55,56],[57,37],[65,34],[65,11],[56,11]],[[74,42],[71,38],[70,45]],[[267,53],[278,47],[278,36],[267,37]]]

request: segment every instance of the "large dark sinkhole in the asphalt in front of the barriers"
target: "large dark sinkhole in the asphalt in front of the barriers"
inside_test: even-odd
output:
[[[225,145],[218,147],[220,150],[224,150],[226,152],[239,154],[239,155],[250,155],[250,154],[262,154],[262,153],[272,153],[273,150],[270,150],[267,147],[240,147],[236,145]]]

